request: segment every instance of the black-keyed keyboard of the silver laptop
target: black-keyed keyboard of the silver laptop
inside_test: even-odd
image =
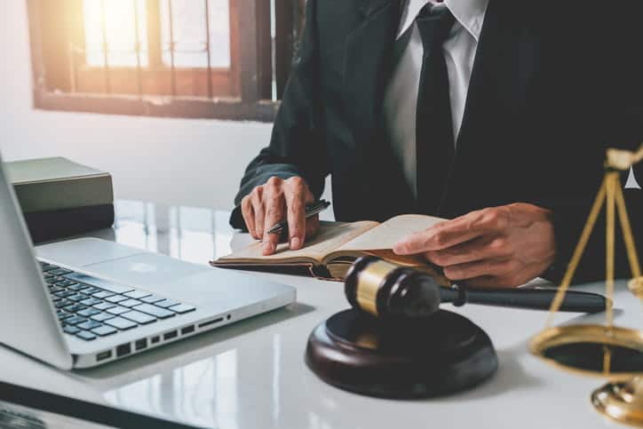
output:
[[[40,263],[62,330],[85,341],[195,310],[122,284]],[[93,283],[93,284],[92,284]]]

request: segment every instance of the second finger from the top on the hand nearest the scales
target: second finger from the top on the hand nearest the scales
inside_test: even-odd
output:
[[[456,266],[485,259],[508,258],[512,246],[504,236],[477,237],[444,250],[429,250],[425,258],[437,266]]]

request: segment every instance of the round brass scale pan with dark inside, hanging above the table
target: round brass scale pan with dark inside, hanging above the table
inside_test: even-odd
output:
[[[603,325],[548,328],[531,339],[529,350],[568,371],[610,380],[643,374],[643,333]]]

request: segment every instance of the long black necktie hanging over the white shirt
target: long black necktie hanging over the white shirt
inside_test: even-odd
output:
[[[425,49],[417,96],[417,205],[438,215],[455,155],[449,73],[442,44],[455,22],[446,7],[427,4],[416,19]]]

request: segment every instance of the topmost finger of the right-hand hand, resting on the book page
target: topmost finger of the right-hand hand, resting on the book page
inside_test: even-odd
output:
[[[468,242],[484,234],[503,231],[509,226],[509,213],[505,208],[472,211],[460,218],[442,222],[425,231],[411,234],[395,244],[399,255],[409,255],[430,250],[443,250]]]

